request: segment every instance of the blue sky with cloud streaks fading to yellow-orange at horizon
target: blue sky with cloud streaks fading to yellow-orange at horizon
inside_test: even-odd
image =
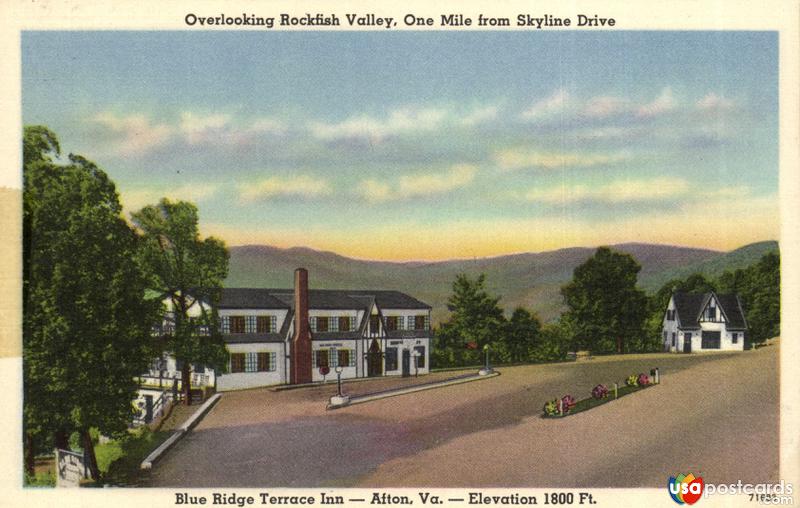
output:
[[[397,261],[778,239],[778,77],[775,32],[22,34],[126,213]]]

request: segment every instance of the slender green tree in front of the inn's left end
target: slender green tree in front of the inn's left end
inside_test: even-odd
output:
[[[142,234],[140,255],[150,288],[163,295],[174,321],[165,349],[181,365],[184,400],[190,404],[191,364],[219,371],[227,366],[216,309],[228,274],[228,250],[221,240],[200,238],[192,203],[164,198],[131,216]]]

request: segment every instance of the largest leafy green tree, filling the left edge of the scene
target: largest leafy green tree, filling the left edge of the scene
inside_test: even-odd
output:
[[[138,238],[113,182],[46,127],[23,136],[23,377],[26,468],[38,445],[77,431],[94,478],[90,429],[124,433],[134,376],[147,367],[157,306],[145,299]]]

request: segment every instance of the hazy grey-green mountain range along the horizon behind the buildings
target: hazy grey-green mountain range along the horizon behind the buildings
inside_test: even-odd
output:
[[[673,278],[692,273],[717,277],[726,270],[744,268],[763,254],[778,250],[778,243],[758,242],[730,252],[645,243],[610,247],[630,254],[641,264],[638,284],[652,293]],[[436,323],[447,319],[447,298],[456,275],[467,273],[475,277],[485,273],[488,291],[501,297],[500,305],[507,312],[522,306],[548,321],[564,310],[561,286],[595,250],[573,247],[477,259],[391,262],[353,259],[307,247],[246,245],[230,248],[230,270],[225,285],[290,288],[294,269],[302,266],[309,271],[312,288],[406,292],[433,307],[432,318]]]

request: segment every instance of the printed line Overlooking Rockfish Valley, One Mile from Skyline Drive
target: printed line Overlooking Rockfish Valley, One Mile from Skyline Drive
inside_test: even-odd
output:
[[[578,14],[573,17],[559,17],[552,14],[532,15],[518,14],[515,18],[494,17],[478,14],[477,18],[464,14],[440,14],[437,18],[406,14],[402,19],[379,16],[377,14],[345,14],[340,17],[336,14],[305,13],[302,15],[279,14],[278,16],[256,16],[255,14],[242,13],[229,16],[221,13],[214,16],[203,16],[189,13],[184,17],[184,22],[193,27],[209,26],[242,26],[242,27],[378,27],[394,28],[401,23],[406,27],[524,27],[541,30],[544,28],[580,27],[580,28],[607,28],[617,24],[614,18],[603,18],[597,14]]]

